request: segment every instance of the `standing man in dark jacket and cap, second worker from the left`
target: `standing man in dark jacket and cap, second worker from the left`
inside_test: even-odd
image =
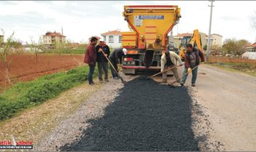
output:
[[[102,51],[104,54],[102,54]],[[107,59],[110,56],[110,47],[107,46],[104,41],[99,41],[99,45],[96,46],[96,52],[97,52],[97,64],[98,64],[98,70],[99,70],[99,82],[102,82],[102,72],[104,71],[104,80],[106,82],[109,82],[107,70],[108,70],[108,62]]]

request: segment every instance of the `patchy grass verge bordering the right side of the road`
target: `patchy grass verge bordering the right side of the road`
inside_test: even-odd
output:
[[[221,69],[227,69],[233,72],[242,72],[247,75],[252,75],[256,77],[256,64],[253,64],[253,63],[228,62],[228,63],[217,63],[217,64],[211,64],[211,65],[215,67],[220,67]]]

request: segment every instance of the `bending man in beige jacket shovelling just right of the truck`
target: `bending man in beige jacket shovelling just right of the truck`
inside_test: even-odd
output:
[[[176,66],[176,61],[178,60],[179,65],[182,65],[181,58],[173,51],[165,51],[165,54],[162,54],[161,56],[161,72],[168,68],[173,68]],[[175,76],[178,83],[181,83],[179,77],[178,77],[178,71],[177,67],[171,69],[173,72],[173,75]],[[162,83],[167,83],[167,72],[162,73]]]

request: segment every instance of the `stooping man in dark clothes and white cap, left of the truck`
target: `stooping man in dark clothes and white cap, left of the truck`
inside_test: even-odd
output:
[[[122,57],[125,56],[126,54],[127,54],[126,48],[115,48],[115,51],[113,51],[112,54],[110,54],[110,62],[115,67],[115,69],[111,67],[111,73],[112,73],[113,79],[115,80],[118,79],[118,75],[115,72],[115,70],[118,72],[117,64],[122,64]]]

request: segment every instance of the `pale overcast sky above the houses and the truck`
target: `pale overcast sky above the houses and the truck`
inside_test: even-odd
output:
[[[67,40],[85,43],[91,35],[116,29],[128,31],[123,6],[143,4],[181,8],[181,19],[173,28],[173,35],[192,33],[194,29],[208,33],[210,1],[0,1],[0,28],[7,36],[15,31],[15,39],[22,43],[31,38],[38,40],[47,31],[61,32],[63,28]],[[223,35],[223,40],[256,41],[256,29],[251,23],[256,16],[256,1],[214,1],[213,4],[211,33]]]

